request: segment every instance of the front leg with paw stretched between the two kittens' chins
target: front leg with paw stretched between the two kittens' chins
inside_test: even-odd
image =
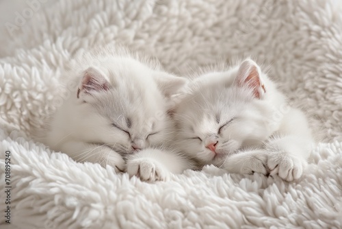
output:
[[[143,149],[127,160],[127,173],[145,181],[166,181],[172,173],[182,173],[187,169],[186,160],[160,149]]]

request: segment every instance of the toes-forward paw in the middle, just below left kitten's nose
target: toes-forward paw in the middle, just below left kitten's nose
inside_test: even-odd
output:
[[[127,162],[127,173],[129,176],[137,176],[141,180],[154,182],[157,180],[166,181],[170,173],[167,169],[150,158],[135,158]]]

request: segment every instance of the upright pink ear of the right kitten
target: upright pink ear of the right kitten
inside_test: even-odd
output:
[[[251,88],[254,97],[261,99],[266,93],[265,86],[261,81],[261,70],[256,62],[250,59],[244,60],[237,71],[237,78],[235,84]]]

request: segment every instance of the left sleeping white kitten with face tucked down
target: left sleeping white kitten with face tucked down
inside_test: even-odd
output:
[[[51,149],[122,171],[128,154],[149,154],[147,147],[166,143],[172,121],[163,114],[187,80],[136,53],[108,47],[70,69],[67,85],[78,86],[53,115],[43,141]]]

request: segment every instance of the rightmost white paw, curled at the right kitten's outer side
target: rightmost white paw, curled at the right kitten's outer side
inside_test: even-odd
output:
[[[272,152],[268,156],[267,166],[270,175],[278,175],[283,180],[293,181],[302,176],[306,161],[286,152]]]

